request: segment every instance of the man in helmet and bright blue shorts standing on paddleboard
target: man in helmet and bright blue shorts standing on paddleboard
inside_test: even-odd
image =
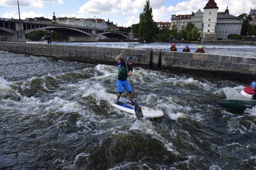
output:
[[[129,76],[132,76],[132,63],[133,63],[133,58],[131,56],[127,57],[126,63],[129,72],[127,71],[126,64],[124,61],[121,61],[120,58],[123,56],[125,51],[121,51],[121,54],[119,54],[116,58],[115,61],[119,64],[119,69],[118,69],[118,76],[116,79],[116,86],[117,86],[117,101],[119,102],[119,99],[123,93],[123,87],[125,88],[125,91],[129,93],[129,97],[131,99],[131,103],[134,104],[133,99],[132,99],[132,90],[131,90],[131,85],[129,84],[127,78]]]

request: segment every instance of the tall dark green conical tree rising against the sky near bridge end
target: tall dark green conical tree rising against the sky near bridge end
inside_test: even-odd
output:
[[[150,8],[149,0],[146,0],[146,5],[143,12],[140,14],[139,35],[147,41],[153,41],[157,32],[157,23],[153,20],[152,8]]]

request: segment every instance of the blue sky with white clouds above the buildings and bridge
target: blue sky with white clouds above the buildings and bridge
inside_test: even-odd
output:
[[[146,0],[19,0],[20,18],[56,17],[96,18],[113,21],[118,26],[127,27],[139,22]],[[150,0],[153,19],[156,22],[170,22],[172,14],[191,14],[203,11],[205,0]],[[256,0],[215,0],[218,11],[228,6],[232,15],[249,13],[256,9]],[[19,19],[17,0],[0,0],[0,17]]]

